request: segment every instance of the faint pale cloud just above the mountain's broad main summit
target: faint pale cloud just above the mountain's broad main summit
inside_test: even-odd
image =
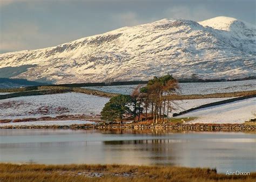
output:
[[[164,15],[168,18],[187,19],[197,22],[215,17],[214,13],[211,10],[208,10],[205,6],[173,6],[172,8],[165,10]]]

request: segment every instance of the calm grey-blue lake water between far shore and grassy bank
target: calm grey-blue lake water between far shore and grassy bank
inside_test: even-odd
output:
[[[239,132],[0,130],[0,162],[162,164],[225,173],[256,171],[255,154],[256,135]]]

